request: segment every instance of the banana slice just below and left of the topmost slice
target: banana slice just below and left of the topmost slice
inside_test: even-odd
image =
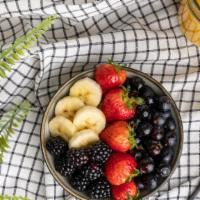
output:
[[[83,106],[83,101],[78,97],[67,96],[58,101],[55,108],[55,114],[73,120],[75,113]]]

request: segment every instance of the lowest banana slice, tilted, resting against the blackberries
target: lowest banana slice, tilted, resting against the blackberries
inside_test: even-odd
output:
[[[82,148],[87,147],[99,140],[98,135],[91,129],[84,129],[77,132],[69,140],[69,148]]]

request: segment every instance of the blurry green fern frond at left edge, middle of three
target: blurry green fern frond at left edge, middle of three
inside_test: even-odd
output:
[[[30,103],[24,101],[15,105],[10,111],[6,112],[0,119],[0,164],[3,162],[3,153],[8,149],[8,139],[26,118],[30,110]]]

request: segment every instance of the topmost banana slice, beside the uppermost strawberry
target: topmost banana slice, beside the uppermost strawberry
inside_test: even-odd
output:
[[[79,97],[86,105],[98,106],[101,101],[102,90],[96,81],[91,78],[83,78],[70,88],[69,95]]]

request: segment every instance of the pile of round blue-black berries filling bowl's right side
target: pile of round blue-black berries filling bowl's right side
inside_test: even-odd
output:
[[[140,175],[134,178],[142,195],[155,189],[169,176],[176,152],[176,123],[168,96],[159,96],[137,76],[128,78],[124,86],[129,96],[139,96],[145,103],[137,108],[134,127],[137,148],[130,153],[138,162]]]

